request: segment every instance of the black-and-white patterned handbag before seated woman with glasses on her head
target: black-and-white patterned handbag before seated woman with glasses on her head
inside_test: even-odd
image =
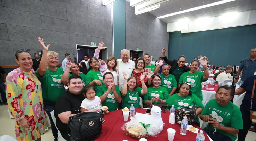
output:
[[[175,117],[176,122],[180,124],[184,116],[186,116],[188,124],[192,124],[192,123],[197,124],[195,120],[197,108],[198,108],[197,105],[180,108],[176,113],[176,117]]]

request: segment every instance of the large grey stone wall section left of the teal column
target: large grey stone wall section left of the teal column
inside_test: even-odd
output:
[[[0,65],[17,65],[14,54],[42,50],[37,37],[49,50],[76,54],[76,44],[105,42],[112,56],[111,5],[101,0],[0,0]],[[34,57],[34,56],[33,56]]]

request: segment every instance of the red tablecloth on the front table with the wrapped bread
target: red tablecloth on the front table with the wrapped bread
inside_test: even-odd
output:
[[[142,108],[135,108],[135,113],[145,113],[146,109]],[[187,130],[187,134],[185,136],[180,134],[180,125],[178,123],[170,124],[169,121],[169,112],[163,113],[162,112],[162,119],[165,126],[163,127],[162,132],[157,137],[147,137],[148,141],[168,141],[167,129],[173,128],[176,130],[176,134],[174,136],[174,141],[195,141],[196,140],[196,133],[192,133],[191,131]],[[129,117],[130,119],[130,117]],[[99,137],[97,137],[96,141],[138,141],[139,139],[132,138],[124,133],[121,129],[122,125],[127,121],[124,121],[122,110],[116,110],[105,114],[104,116],[105,122],[103,123],[102,133]],[[200,127],[192,124],[195,128],[200,129]],[[201,130],[201,129],[200,129]],[[204,132],[205,141],[210,141],[207,137],[206,133]]]

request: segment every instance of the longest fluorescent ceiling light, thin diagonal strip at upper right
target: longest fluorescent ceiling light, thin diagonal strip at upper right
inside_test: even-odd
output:
[[[179,12],[174,12],[174,13],[171,13],[171,14],[166,14],[166,15],[163,15],[163,16],[160,16],[160,17],[157,17],[157,18],[159,18],[159,19],[166,18],[166,17],[170,17],[170,16],[173,16],[173,15],[177,15],[177,14],[182,14],[182,13],[186,13],[186,12],[190,12],[190,11],[195,11],[195,10],[199,10],[199,9],[203,9],[203,8],[207,8],[207,7],[211,7],[211,6],[215,6],[215,5],[225,4],[225,3],[231,2],[231,1],[235,1],[235,0],[222,0],[222,1],[218,1],[218,2],[213,2],[211,4],[202,5],[202,6],[190,8],[190,9],[187,9],[187,10],[179,11]]]

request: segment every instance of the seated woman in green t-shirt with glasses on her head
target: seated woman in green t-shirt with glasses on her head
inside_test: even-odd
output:
[[[199,108],[196,109],[196,121],[197,124],[199,125],[200,122],[198,115],[201,114],[201,112],[204,109],[204,106],[201,100],[195,94],[192,94],[190,89],[190,83],[182,82],[180,85],[179,93],[173,94],[169,99],[166,100],[166,103],[168,105],[167,111],[170,111],[169,109],[171,108],[172,105],[174,105],[175,110],[178,110],[186,106],[198,105]]]

